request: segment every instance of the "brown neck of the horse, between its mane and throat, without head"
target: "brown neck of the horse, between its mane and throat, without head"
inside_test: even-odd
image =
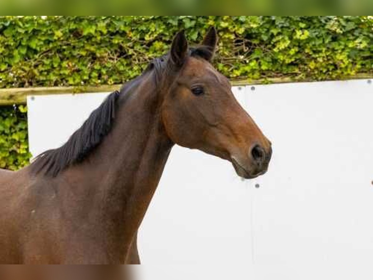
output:
[[[111,222],[110,230],[123,243],[140,226],[173,145],[164,132],[162,100],[151,79],[126,94],[125,101],[118,100],[109,135],[81,165],[64,174],[65,180],[79,184],[78,193],[90,201],[87,208],[94,220]]]

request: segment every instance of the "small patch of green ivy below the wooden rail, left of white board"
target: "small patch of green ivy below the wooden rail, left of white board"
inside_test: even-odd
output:
[[[28,164],[26,107],[0,110],[0,168],[16,170]]]

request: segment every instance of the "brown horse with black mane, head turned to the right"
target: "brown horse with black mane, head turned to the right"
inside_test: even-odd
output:
[[[138,264],[137,230],[174,144],[264,174],[271,143],[210,61],[211,28],[110,94],[62,147],[0,172],[0,263]],[[66,113],[69,113],[68,110]]]

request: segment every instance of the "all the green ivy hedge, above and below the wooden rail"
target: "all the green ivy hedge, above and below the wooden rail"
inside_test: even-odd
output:
[[[167,52],[180,29],[198,43],[211,25],[215,65],[229,78],[373,73],[369,16],[1,16],[0,88],[120,84]],[[0,167],[28,160],[24,110],[0,109]]]

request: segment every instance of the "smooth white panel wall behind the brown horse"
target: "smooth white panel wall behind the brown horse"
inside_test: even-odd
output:
[[[269,172],[242,181],[228,162],[175,147],[140,231],[144,279],[373,279],[373,85],[234,93],[273,142]],[[32,154],[66,141],[104,96],[29,97]]]

